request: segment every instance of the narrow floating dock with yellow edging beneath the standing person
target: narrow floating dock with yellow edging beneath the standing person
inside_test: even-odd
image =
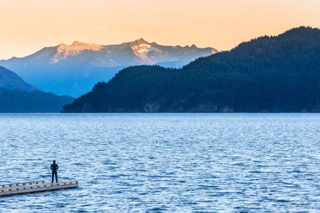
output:
[[[31,182],[0,184],[0,196],[67,189],[77,186],[77,180],[60,183],[44,183],[44,180],[39,180]]]

